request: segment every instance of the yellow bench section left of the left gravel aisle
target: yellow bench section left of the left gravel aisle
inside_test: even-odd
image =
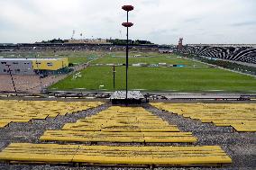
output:
[[[0,100],[0,128],[11,122],[55,118],[58,115],[87,110],[101,104],[103,103]]]

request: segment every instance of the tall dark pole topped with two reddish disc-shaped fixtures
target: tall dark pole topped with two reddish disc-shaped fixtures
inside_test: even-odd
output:
[[[126,20],[126,22],[122,23],[123,27],[126,27],[126,29],[127,29],[127,33],[126,33],[126,37],[127,37],[127,40],[126,40],[126,94],[125,94],[125,100],[126,100],[126,103],[127,103],[127,93],[128,93],[128,51],[129,51],[129,49],[128,49],[129,48],[128,47],[128,43],[129,43],[129,39],[128,39],[129,31],[128,31],[128,28],[133,26],[133,23],[128,21],[128,13],[130,11],[133,11],[133,6],[132,5],[123,5],[122,9],[127,12],[127,20]]]

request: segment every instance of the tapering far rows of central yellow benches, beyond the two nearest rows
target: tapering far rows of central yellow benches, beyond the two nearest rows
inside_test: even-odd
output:
[[[167,121],[147,112],[142,107],[112,106],[103,112],[78,120],[75,123],[67,123],[62,130],[80,131],[123,131],[123,132],[166,132],[179,131],[175,125],[169,125]]]

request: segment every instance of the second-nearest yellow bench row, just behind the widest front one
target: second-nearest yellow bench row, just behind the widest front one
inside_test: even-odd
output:
[[[76,142],[196,142],[191,132],[104,132],[47,130],[40,138]]]

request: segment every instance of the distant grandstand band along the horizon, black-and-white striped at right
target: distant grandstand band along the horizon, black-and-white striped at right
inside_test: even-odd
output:
[[[130,45],[132,50],[159,51],[160,53],[177,52],[205,58],[219,58],[256,64],[256,44],[187,44],[166,46],[156,44]],[[0,44],[1,51],[15,50],[124,50],[124,45],[105,43],[20,43]]]

